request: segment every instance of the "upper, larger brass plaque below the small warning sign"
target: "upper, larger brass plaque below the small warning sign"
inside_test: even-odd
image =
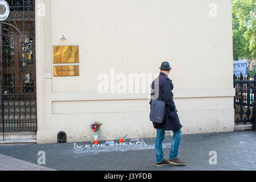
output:
[[[53,46],[53,63],[79,63],[78,46]]]

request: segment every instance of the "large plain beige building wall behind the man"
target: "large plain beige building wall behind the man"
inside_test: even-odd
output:
[[[97,78],[111,69],[154,75],[162,61],[173,68],[183,134],[234,131],[231,1],[36,2],[46,11],[36,20],[38,143],[57,142],[59,131],[90,141],[94,121],[101,140],[155,137],[149,94],[99,94]],[[78,77],[53,76],[54,45],[79,45]]]

